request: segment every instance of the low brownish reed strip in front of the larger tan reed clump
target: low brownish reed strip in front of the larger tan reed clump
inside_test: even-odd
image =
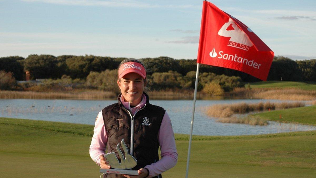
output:
[[[259,116],[248,117],[232,117],[232,118],[218,118],[216,122],[234,123],[234,124],[249,124],[249,125],[268,125],[268,121]]]

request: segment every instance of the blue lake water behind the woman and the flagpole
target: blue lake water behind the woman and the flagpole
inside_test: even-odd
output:
[[[269,122],[267,126],[216,122],[205,114],[205,106],[231,103],[281,102],[266,99],[197,100],[194,117],[194,135],[257,135],[290,131],[316,130],[301,124]],[[0,99],[0,117],[23,118],[94,125],[98,112],[115,100],[52,100],[52,99]],[[190,134],[192,100],[150,100],[169,114],[175,133]]]

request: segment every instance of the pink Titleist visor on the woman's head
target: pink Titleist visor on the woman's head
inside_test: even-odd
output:
[[[138,62],[126,62],[119,67],[119,79],[128,73],[138,73],[144,79],[146,79],[146,70],[143,65]]]

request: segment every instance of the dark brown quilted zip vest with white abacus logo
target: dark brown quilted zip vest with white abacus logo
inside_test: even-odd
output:
[[[165,110],[162,107],[149,104],[149,97],[145,93],[147,102],[146,105],[137,111],[134,119],[134,148],[133,156],[137,159],[136,167],[133,170],[138,170],[151,163],[159,160],[158,149],[158,131],[160,129],[162,118]],[[118,103],[109,105],[102,110],[103,121],[108,133],[107,150],[108,153],[115,152],[120,160],[116,146],[124,138],[126,146],[130,151],[131,143],[131,116],[129,111],[124,108],[118,96]],[[121,148],[121,147],[120,147]],[[121,148],[124,153],[123,149]],[[125,153],[124,153],[125,154]],[[124,177],[119,174],[108,174],[108,177]],[[158,175],[156,177],[162,177]]]

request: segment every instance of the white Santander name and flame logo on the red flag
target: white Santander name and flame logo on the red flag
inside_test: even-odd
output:
[[[220,52],[218,52],[218,54],[219,54],[219,56],[217,57],[217,53],[215,51],[215,48],[213,48],[213,50],[210,52],[210,57],[212,57],[212,58],[217,57],[217,59],[223,59],[223,60],[231,60],[232,62],[246,64],[246,65],[253,67],[255,69],[259,69],[260,66],[262,66],[262,64],[254,62],[254,60],[239,57],[239,56],[237,56],[237,54],[235,54],[235,55],[227,54],[227,53],[224,53],[224,51],[220,51]]]

